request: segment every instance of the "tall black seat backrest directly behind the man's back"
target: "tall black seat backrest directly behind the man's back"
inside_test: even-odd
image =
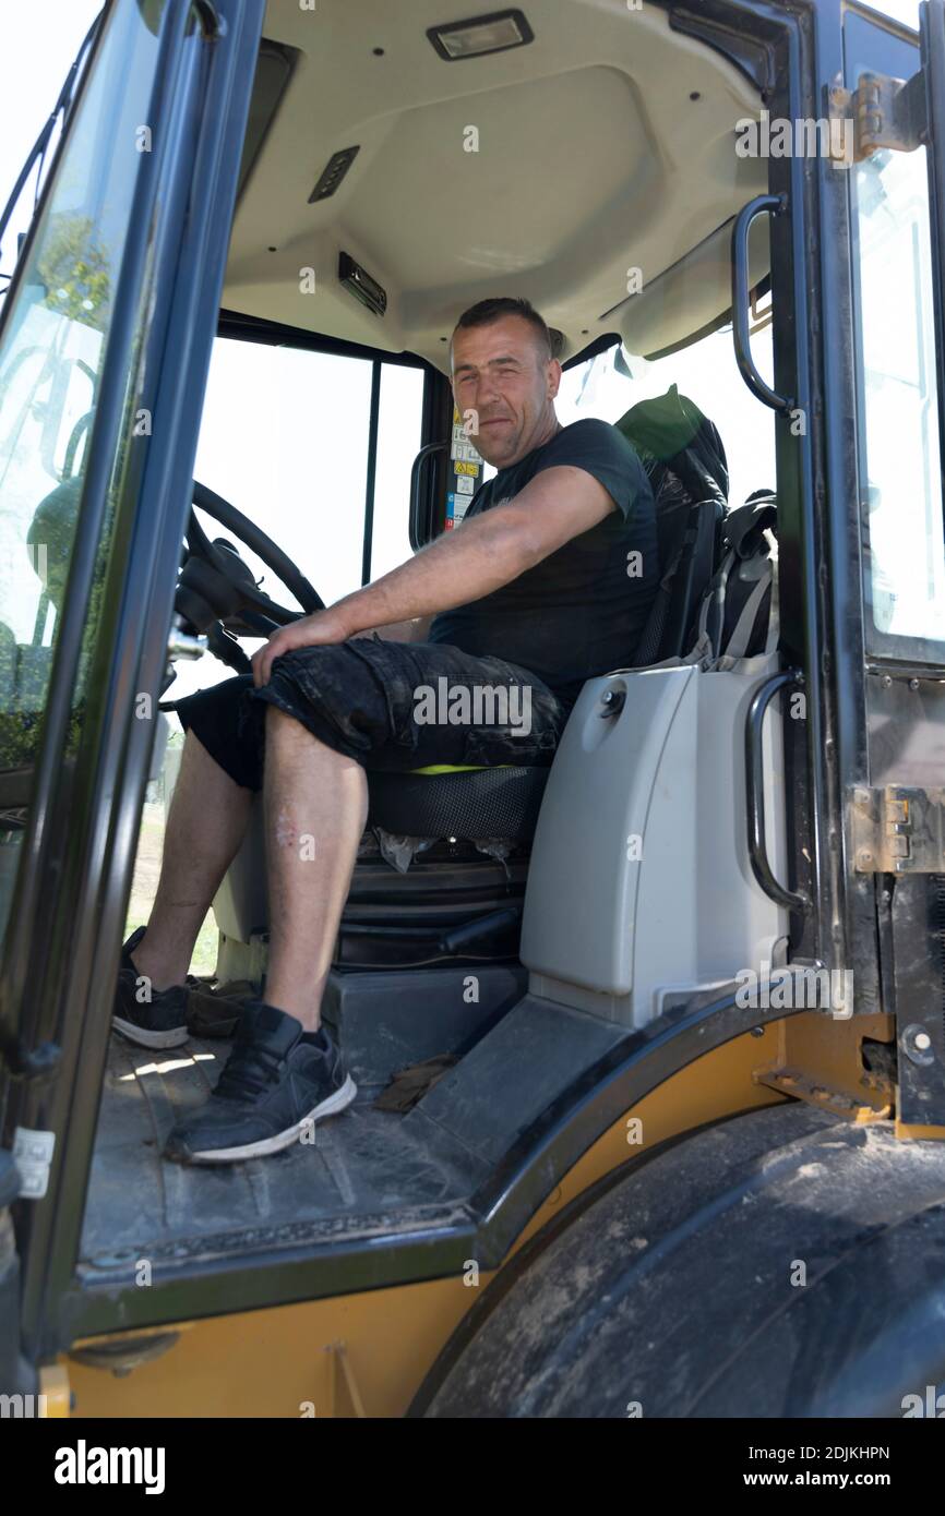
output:
[[[728,503],[728,464],[716,426],[675,385],[617,423],[654,491],[660,587],[631,666],[681,658],[716,572]]]

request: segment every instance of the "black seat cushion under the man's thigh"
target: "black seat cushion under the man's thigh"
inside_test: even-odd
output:
[[[369,826],[397,837],[504,837],[529,841],[549,769],[369,773]]]

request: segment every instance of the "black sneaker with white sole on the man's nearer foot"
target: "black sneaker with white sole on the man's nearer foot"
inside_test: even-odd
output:
[[[238,1163],[299,1142],[350,1105],[358,1088],[329,1032],[244,1001],[234,1051],[206,1105],[179,1122],[164,1148],[174,1163]]]

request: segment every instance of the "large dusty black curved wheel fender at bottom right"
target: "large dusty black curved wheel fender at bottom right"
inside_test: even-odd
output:
[[[786,1102],[578,1196],[410,1414],[903,1417],[943,1383],[945,1143]]]

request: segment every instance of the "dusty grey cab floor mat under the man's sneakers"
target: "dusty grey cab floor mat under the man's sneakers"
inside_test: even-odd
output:
[[[229,1048],[194,1038],[155,1055],[111,1038],[80,1266],[109,1269],[126,1254],[244,1252],[290,1223],[367,1220],[402,1207],[438,1211],[487,1172],[481,1157],[419,1110],[410,1129],[402,1116],[375,1110],[379,1085],[359,1087],[346,1111],[314,1128],[314,1143],[214,1167],[168,1163],[161,1151],[170,1128],[203,1104]]]

